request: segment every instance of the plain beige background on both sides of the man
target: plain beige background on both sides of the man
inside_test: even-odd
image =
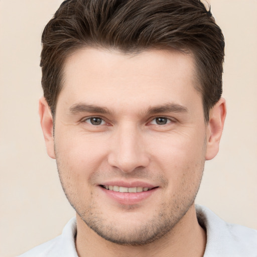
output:
[[[45,151],[40,37],[61,0],[0,0],[0,256],[61,233],[74,215]],[[228,222],[257,229],[257,0],[211,0],[226,39],[228,115],[197,197]]]

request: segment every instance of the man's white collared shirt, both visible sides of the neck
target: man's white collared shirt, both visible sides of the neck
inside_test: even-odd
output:
[[[196,212],[207,231],[204,257],[257,257],[257,230],[226,223],[204,206],[196,205]],[[76,218],[72,218],[61,235],[19,257],[78,257],[76,231]]]

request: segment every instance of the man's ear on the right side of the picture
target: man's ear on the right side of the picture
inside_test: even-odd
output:
[[[221,98],[210,110],[206,139],[206,160],[211,160],[218,154],[226,112],[226,101],[224,98]]]

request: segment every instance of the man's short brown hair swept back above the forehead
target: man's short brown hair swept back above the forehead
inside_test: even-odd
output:
[[[224,37],[199,0],[66,0],[42,35],[42,87],[55,113],[66,58],[84,47],[191,52],[205,120],[220,99]]]

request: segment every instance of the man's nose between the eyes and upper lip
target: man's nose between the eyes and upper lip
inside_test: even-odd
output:
[[[140,129],[132,125],[120,126],[112,135],[108,163],[124,173],[147,167],[150,158]]]

